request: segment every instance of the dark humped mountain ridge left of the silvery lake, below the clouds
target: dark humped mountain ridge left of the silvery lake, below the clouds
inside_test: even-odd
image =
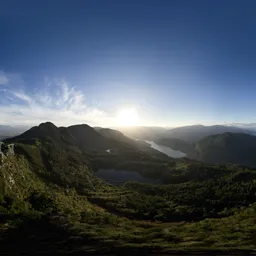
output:
[[[97,166],[103,162],[111,165],[118,163],[125,165],[126,161],[141,161],[142,159],[155,161],[156,157],[171,161],[170,157],[150,148],[146,143],[133,141],[119,131],[105,128],[96,131],[86,124],[57,127],[51,122],[41,123],[4,141],[15,143],[19,151],[25,155],[30,155],[25,147],[25,145],[30,145],[37,147],[40,159],[49,158],[44,155],[51,154],[54,157],[67,158],[77,163],[90,159],[91,163],[96,162]],[[29,152],[32,151],[29,149]]]

